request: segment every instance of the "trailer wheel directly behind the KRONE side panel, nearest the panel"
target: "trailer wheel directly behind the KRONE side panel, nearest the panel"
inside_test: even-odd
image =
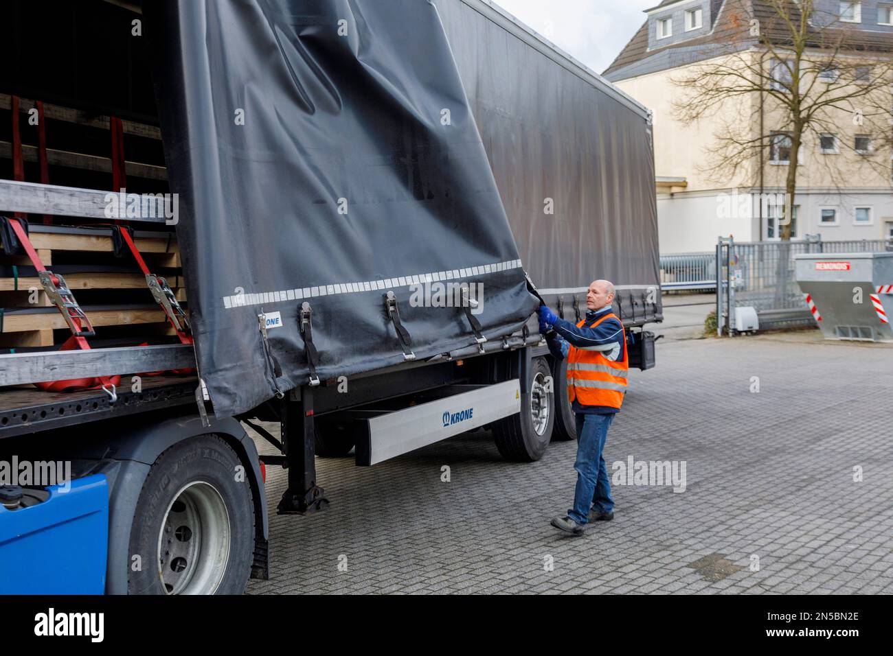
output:
[[[526,394],[527,403],[524,403],[522,397],[519,414],[494,423],[497,449],[506,460],[533,462],[546,453],[555,422],[555,394],[547,392],[548,378],[551,375],[546,359],[534,358],[530,362],[530,394]]]

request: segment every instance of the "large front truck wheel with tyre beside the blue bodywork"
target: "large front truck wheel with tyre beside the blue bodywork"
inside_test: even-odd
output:
[[[236,452],[213,435],[158,456],[130,530],[129,594],[245,592],[255,506],[248,482],[237,480],[240,467]]]

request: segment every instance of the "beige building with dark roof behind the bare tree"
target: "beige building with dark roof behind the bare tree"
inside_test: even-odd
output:
[[[816,12],[821,7],[823,15],[841,25],[846,22],[858,46],[864,47],[855,55],[858,63],[878,62],[875,71],[889,67],[893,0],[814,4]],[[769,24],[772,9],[761,0],[664,0],[646,13],[645,24],[604,75],[654,112],[661,252],[708,251],[721,235],[737,241],[780,238],[791,162],[786,120],[772,95],[727,98],[697,121],[680,120],[673,106],[689,93],[675,80],[702,71],[700,67],[765,61],[757,39],[742,38],[741,33],[749,35],[761,18],[763,26]],[[822,49],[810,54],[816,61],[825,57]],[[839,61],[846,66],[842,58]],[[783,69],[779,71],[783,76]],[[813,94],[829,84],[839,88],[842,83],[834,75],[830,68],[817,79],[805,77],[800,88],[812,84]],[[884,101],[893,107],[890,89],[888,85],[882,93],[889,95]],[[821,129],[805,134],[798,158],[792,238],[893,237],[890,130],[889,116],[855,119],[849,108],[822,114]],[[716,166],[714,154],[723,136],[730,134],[763,135],[771,145],[742,158],[732,172]]]

